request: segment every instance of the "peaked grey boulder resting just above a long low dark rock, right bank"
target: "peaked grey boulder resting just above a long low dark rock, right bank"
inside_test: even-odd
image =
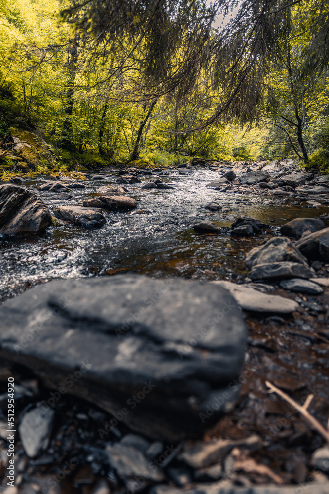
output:
[[[246,255],[246,264],[249,268],[256,264],[271,262],[300,262],[308,266],[306,257],[294,247],[287,237],[273,237],[266,244],[254,247]]]

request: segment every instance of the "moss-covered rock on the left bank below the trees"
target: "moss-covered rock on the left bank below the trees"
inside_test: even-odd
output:
[[[34,169],[41,165],[41,159],[49,157],[49,146],[41,137],[16,127],[10,127],[10,133],[14,141],[14,153],[21,157],[29,168]]]

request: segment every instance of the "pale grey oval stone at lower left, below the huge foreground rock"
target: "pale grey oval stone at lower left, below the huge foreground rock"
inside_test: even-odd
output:
[[[48,447],[54,413],[50,407],[37,405],[24,414],[18,430],[25,453],[30,458],[35,458]]]

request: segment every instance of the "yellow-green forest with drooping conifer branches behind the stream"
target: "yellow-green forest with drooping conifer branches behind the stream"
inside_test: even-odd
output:
[[[235,8],[238,12],[232,16]],[[290,157],[328,171],[323,0],[1,2],[0,132],[51,146],[37,170]]]

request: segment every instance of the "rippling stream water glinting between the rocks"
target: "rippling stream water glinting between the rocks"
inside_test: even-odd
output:
[[[263,193],[222,193],[205,186],[216,178],[218,173],[208,168],[197,169],[191,175],[175,170],[164,179],[174,189],[141,190],[143,184],[127,185],[127,195],[139,201],[136,210],[105,213],[107,224],[101,228],[68,224],[49,227],[42,235],[0,238],[0,299],[58,277],[130,272],[194,279],[236,278],[246,274],[246,251],[273,236],[280,224],[295,217],[328,213],[328,206],[308,209],[293,206],[292,200],[280,204],[275,196]],[[37,191],[52,208],[104,195],[96,193],[96,189],[101,185],[117,186],[116,179],[113,175],[106,180],[86,181],[85,189],[73,189],[71,201],[59,201],[55,192],[37,191],[43,179],[25,181],[24,185]],[[146,181],[149,179],[146,177]],[[214,200],[229,211],[206,210],[204,206]],[[192,229],[203,219],[229,226],[241,215],[271,227],[253,238],[201,235]]]

